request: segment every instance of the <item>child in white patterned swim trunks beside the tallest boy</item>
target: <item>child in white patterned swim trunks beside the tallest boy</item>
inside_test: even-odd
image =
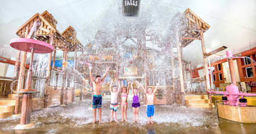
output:
[[[109,90],[111,93],[111,103],[110,103],[110,110],[111,110],[111,120],[109,122],[112,122],[113,119],[113,112],[114,112],[114,120],[116,122],[118,122],[116,120],[116,110],[117,110],[117,96],[120,90],[120,80],[118,81],[118,89],[117,86],[113,86],[113,91],[111,90],[111,86],[112,86],[113,80],[111,80],[111,83],[109,85]]]

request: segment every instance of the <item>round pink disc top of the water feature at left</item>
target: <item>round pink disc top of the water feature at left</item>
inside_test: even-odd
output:
[[[35,48],[34,53],[47,54],[53,52],[53,46],[41,40],[28,38],[14,38],[10,40],[10,46],[24,52],[31,52],[31,48]]]

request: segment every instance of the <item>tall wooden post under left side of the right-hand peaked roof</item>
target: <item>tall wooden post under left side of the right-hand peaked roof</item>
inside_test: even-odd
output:
[[[179,31],[176,31],[176,41],[177,41],[177,53],[179,61],[179,73],[180,73],[180,94],[181,94],[181,105],[185,106],[185,96],[184,96],[184,81],[183,81],[183,68],[182,68],[182,57],[180,49]]]

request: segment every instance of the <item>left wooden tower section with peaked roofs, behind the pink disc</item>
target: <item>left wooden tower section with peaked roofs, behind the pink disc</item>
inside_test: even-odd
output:
[[[85,49],[79,40],[77,40],[76,31],[71,26],[60,33],[56,28],[56,24],[57,20],[55,20],[49,12],[45,11],[42,14],[36,13],[15,31],[15,34],[20,38],[41,40],[54,47],[53,55],[52,53],[49,54],[46,69],[40,67],[39,63],[36,64],[35,68],[42,70],[43,73],[40,74],[40,76],[38,74],[33,74],[32,77],[33,82],[31,86],[40,91],[40,93],[33,94],[31,103],[32,111],[74,102],[75,84],[78,83],[82,85],[83,78],[76,75],[78,73],[76,71],[76,66],[74,65],[74,67],[71,68],[66,67],[68,64],[67,59],[69,52],[75,53],[74,60],[76,62],[77,52],[83,52]],[[55,67],[56,51],[63,51],[62,68]],[[25,88],[24,86],[27,82],[27,65],[25,64],[27,52],[22,52],[22,56],[20,56],[20,54],[21,52],[17,51],[16,61],[13,61],[15,62],[14,77],[1,77],[1,79],[5,79],[1,80],[1,82],[4,83],[4,86],[1,87],[1,89],[4,89],[4,92],[1,92],[1,96],[8,96],[8,98],[0,99],[0,105],[10,105],[10,107],[15,105],[15,107],[14,111],[10,108],[9,111],[0,113],[0,118],[13,116],[13,113],[19,115],[21,112],[22,94],[16,94],[10,89],[13,81],[12,88],[14,91],[20,91]],[[51,61],[53,62],[52,66]]]

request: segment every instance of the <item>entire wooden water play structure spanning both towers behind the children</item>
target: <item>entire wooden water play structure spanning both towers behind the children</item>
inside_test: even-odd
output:
[[[36,24],[37,22],[39,24]],[[80,100],[82,100],[83,90],[92,92],[92,89],[88,87],[91,85],[89,81],[89,68],[78,62],[84,60],[89,61],[93,65],[93,77],[102,74],[102,70],[105,70],[106,66],[110,66],[109,79],[102,88],[102,93],[104,94],[108,94],[110,79],[114,79],[116,85],[118,80],[134,81],[134,86],[138,86],[137,82],[141,82],[146,89],[148,87],[154,89],[156,82],[158,82],[159,87],[154,98],[155,104],[176,103],[182,106],[189,105],[185,104],[185,93],[205,93],[205,91],[210,90],[206,57],[213,53],[207,54],[205,52],[203,35],[210,26],[189,9],[183,14],[177,13],[171,22],[170,28],[167,29],[169,34],[164,35],[162,41],[158,39],[158,37],[162,36],[161,31],[146,32],[147,24],[140,26],[139,29],[132,29],[136,27],[135,23],[130,24],[131,27],[126,27],[122,23],[116,22],[117,28],[114,34],[113,31],[99,30],[94,37],[95,40],[89,41],[88,44],[83,46],[76,38],[77,33],[74,28],[69,26],[60,33],[56,27],[57,20],[49,12],[36,13],[15,31],[15,34],[20,38],[41,40],[53,46],[53,53],[49,54],[46,68],[41,69],[39,63],[35,65],[36,68],[43,71],[42,74],[33,75],[32,77],[32,87],[37,88],[40,93],[33,94],[31,110],[74,102],[76,85],[82,85],[76,91],[76,95],[79,94]],[[110,33],[111,36],[109,35]],[[193,81],[191,79],[191,73],[193,73],[191,71],[191,62],[183,59],[183,47],[188,46],[194,39],[199,39],[202,43],[206,77],[201,81]],[[125,46],[126,40],[132,41],[135,45]],[[162,48],[162,51],[147,47],[147,41]],[[174,48],[177,48],[177,57],[173,56]],[[62,67],[60,68],[55,66],[56,51],[63,51]],[[75,53],[74,64],[68,63],[68,54],[70,52]],[[77,55],[77,52],[82,52],[82,54]],[[2,89],[0,94],[0,96],[9,96],[9,98],[0,100],[0,104],[7,104],[6,102],[9,102],[12,106],[15,104],[14,114],[17,115],[21,110],[21,94],[13,93],[10,90],[10,83],[14,81],[12,85],[14,91],[23,89],[27,81],[26,69],[29,66],[25,64],[27,52],[22,52],[22,56],[20,54],[21,52],[17,51],[15,62],[5,61],[10,64],[15,63],[14,76],[13,78],[1,77],[5,81],[2,80],[4,92]],[[159,64],[161,60],[168,61],[170,64],[163,61]],[[178,61],[179,76],[175,76],[174,61]],[[191,88],[190,81],[204,84],[200,84],[201,87],[196,88],[200,90],[194,90]],[[79,93],[78,90],[80,90]],[[141,102],[146,103],[146,96],[142,90],[140,90],[140,94]],[[208,97],[210,100],[211,96]],[[208,98],[204,97],[204,99]],[[199,102],[211,103],[208,100]],[[211,107],[210,105],[209,107]],[[4,117],[12,116],[12,113],[13,111],[9,111]]]

